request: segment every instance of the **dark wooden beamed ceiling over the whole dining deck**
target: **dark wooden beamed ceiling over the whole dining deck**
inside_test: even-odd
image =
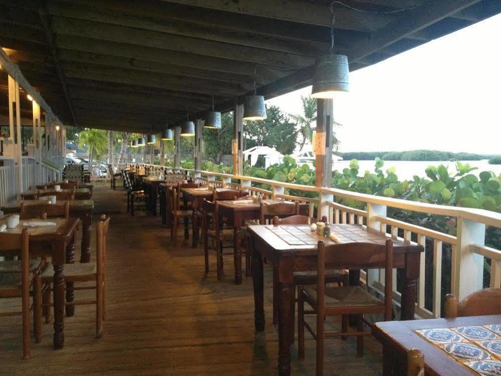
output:
[[[499,0],[342,2],[357,9],[333,5],[352,71],[501,12]],[[309,85],[330,23],[328,0],[0,0],[0,46],[63,122],[141,132],[202,116],[213,95],[229,110],[254,79],[266,98]]]

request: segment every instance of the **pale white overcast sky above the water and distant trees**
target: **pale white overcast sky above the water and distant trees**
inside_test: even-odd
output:
[[[340,151],[501,154],[501,15],[350,74]],[[268,101],[300,112],[311,86]]]

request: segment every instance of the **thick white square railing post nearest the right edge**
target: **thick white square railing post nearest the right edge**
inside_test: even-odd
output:
[[[457,247],[451,291],[459,300],[480,290],[483,283],[483,256],[470,252],[470,245],[484,245],[485,224],[457,218]]]

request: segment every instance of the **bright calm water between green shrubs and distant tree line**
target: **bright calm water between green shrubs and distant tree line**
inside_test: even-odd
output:
[[[492,171],[496,175],[501,174],[501,165],[489,165],[487,160],[482,161],[461,161],[461,163],[469,164],[471,167],[478,167],[477,170],[473,170],[471,174],[477,175],[482,171]],[[333,166],[333,170],[342,171],[344,168],[349,168],[350,161],[339,161],[336,162]],[[374,167],[376,163],[374,161],[359,161],[360,166],[360,174],[363,175],[366,170],[370,172],[374,172]],[[448,167],[449,174],[455,175],[456,163],[455,162],[436,162],[436,161],[385,161],[385,164],[382,168],[383,171],[386,172],[386,169],[390,167],[395,167],[397,169],[396,174],[399,180],[410,180],[414,175],[418,175],[419,177],[426,176],[424,170],[428,166],[439,166],[444,165]]]

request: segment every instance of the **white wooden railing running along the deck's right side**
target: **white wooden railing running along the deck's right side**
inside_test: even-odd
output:
[[[158,167],[158,166],[155,166]],[[337,188],[318,188],[299,184],[282,183],[274,180],[222,174],[209,171],[191,169],[174,169],[183,171],[193,177],[207,177],[209,180],[219,179],[227,183],[240,182],[242,189],[250,190],[250,194],[267,193],[274,198],[297,200],[310,204],[310,213],[313,207],[318,208],[318,217],[326,215],[331,223],[357,223],[379,231],[388,233],[393,238],[411,241],[411,238],[422,245],[425,250],[428,244],[433,243],[433,276],[431,281],[426,280],[425,258],[426,251],[421,254],[420,276],[418,279],[418,293],[416,301],[416,315],[422,318],[439,317],[442,303],[442,251],[444,246],[451,250],[451,276],[447,291],[463,299],[470,293],[482,288],[484,259],[490,259],[490,286],[501,287],[501,250],[484,245],[486,226],[501,228],[501,213],[470,209],[455,206],[434,205],[423,202],[374,196],[357,192],[345,191]],[[256,187],[266,184],[271,190]],[[288,191],[315,192],[318,198],[291,196]],[[355,209],[342,205],[336,201],[352,199],[364,202],[367,210]],[[412,223],[396,220],[387,216],[388,208],[403,209],[411,212],[429,213],[452,217],[457,220],[457,236],[452,236]],[[400,300],[397,291],[396,272],[393,278],[394,298]],[[361,279],[377,291],[384,291],[384,271],[369,270],[368,275],[362,273]],[[433,296],[431,309],[425,308],[425,286],[431,284]]]

